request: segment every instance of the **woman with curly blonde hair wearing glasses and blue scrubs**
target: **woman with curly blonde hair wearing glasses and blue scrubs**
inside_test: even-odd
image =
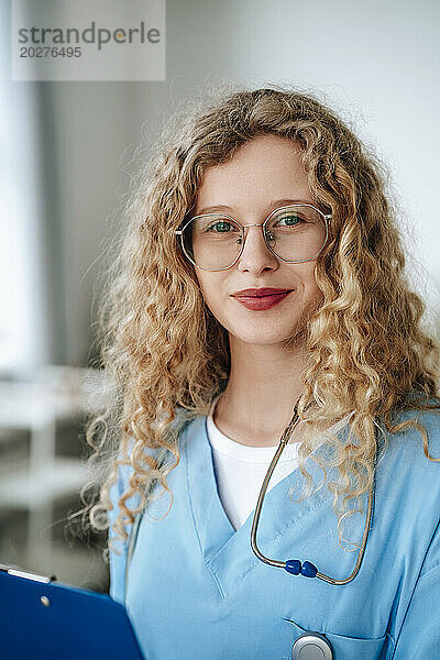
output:
[[[437,658],[439,352],[380,165],[277,88],[172,133],[127,209],[89,430],[111,595],[148,660]]]

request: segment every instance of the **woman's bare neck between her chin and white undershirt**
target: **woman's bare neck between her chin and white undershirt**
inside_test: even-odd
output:
[[[249,344],[231,336],[230,350],[231,373],[213,411],[216,426],[242,444],[275,446],[304,389],[304,348]]]

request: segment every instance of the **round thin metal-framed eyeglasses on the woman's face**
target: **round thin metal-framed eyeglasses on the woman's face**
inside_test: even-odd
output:
[[[324,215],[309,204],[280,207],[262,223],[241,224],[228,213],[202,213],[190,218],[182,229],[182,249],[201,271],[226,271],[240,258],[245,243],[245,228],[261,227],[267,250],[289,264],[312,261],[328,238]]]

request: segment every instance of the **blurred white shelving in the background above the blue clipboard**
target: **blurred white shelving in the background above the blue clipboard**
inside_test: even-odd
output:
[[[82,508],[80,491],[94,481],[85,459],[86,416],[103,409],[108,393],[100,372],[58,365],[32,383],[0,382],[1,563],[108,587],[105,535],[67,538],[74,529],[68,514]]]

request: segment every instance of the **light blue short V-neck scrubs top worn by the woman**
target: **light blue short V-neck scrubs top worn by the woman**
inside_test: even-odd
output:
[[[439,458],[440,417],[424,413],[419,419],[430,454]],[[121,556],[110,553],[110,595],[125,603],[146,660],[290,660],[305,631],[324,634],[334,660],[438,660],[440,464],[425,457],[420,433],[388,437],[361,570],[349,584],[331,585],[257,560],[250,547],[252,514],[234,530],[218,495],[206,420],[196,418],[180,433],[182,459],[168,475],[168,515],[167,495],[146,507],[125,600],[127,543],[118,544]],[[320,483],[322,471],[310,459],[306,466]],[[128,476],[120,469],[111,493],[116,506]],[[272,559],[308,560],[345,579],[358,551],[339,546],[327,485],[302,503],[292,501],[289,488],[301,480],[295,470],[266,494],[258,546]],[[363,504],[344,538],[361,542],[366,496]]]

